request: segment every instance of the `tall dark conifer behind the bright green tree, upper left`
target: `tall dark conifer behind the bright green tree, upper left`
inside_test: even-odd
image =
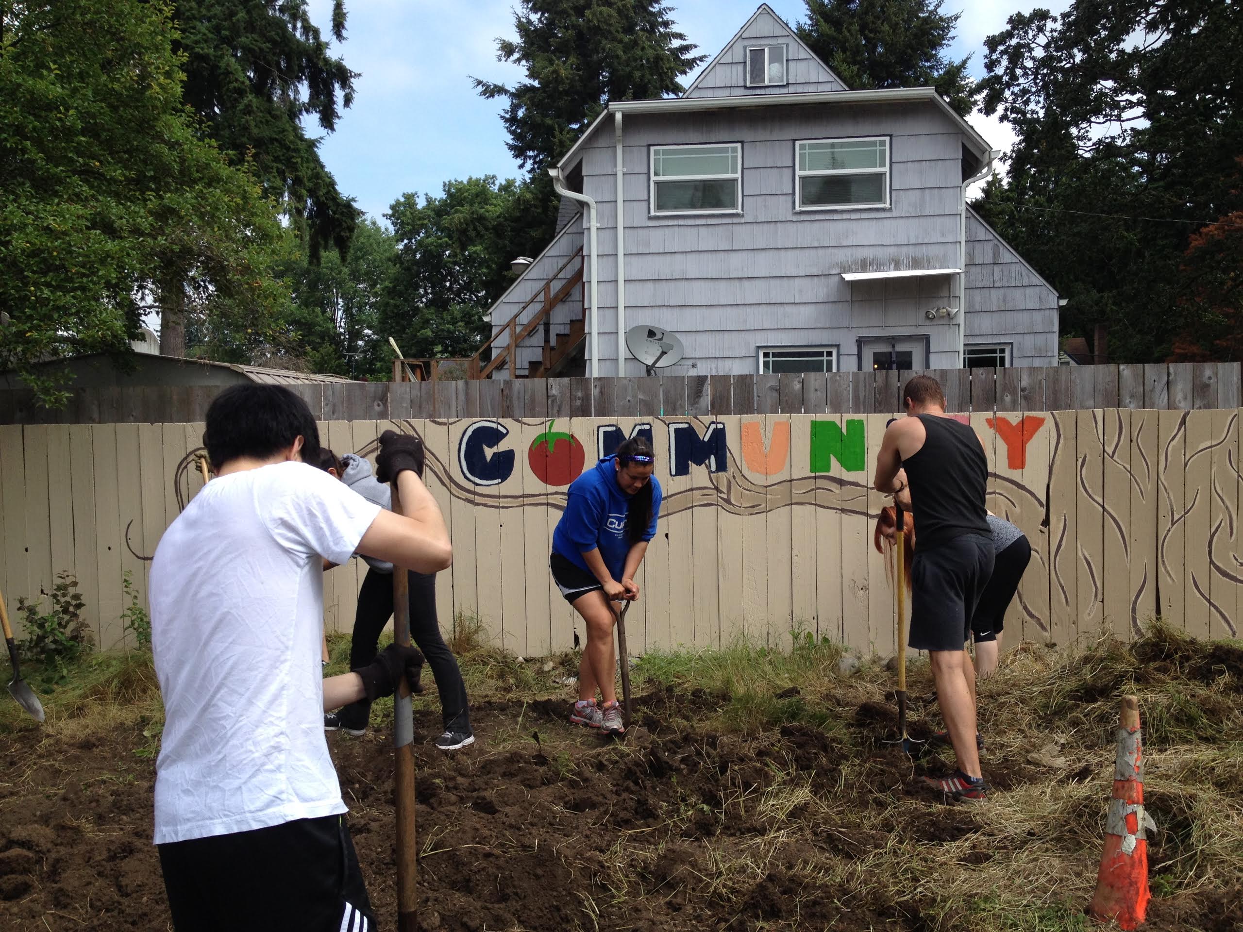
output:
[[[303,121],[332,132],[339,108],[353,102],[357,75],[329,52],[306,0],[174,0],[174,6],[185,102],[235,164],[252,167],[305,239],[312,262],[323,246],[344,255],[358,210],[337,189]],[[333,1],[332,37],[346,37],[343,0]],[[160,349],[181,355],[175,278],[162,296]]]

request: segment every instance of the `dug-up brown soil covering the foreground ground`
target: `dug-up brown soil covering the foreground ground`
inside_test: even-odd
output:
[[[685,721],[675,712],[689,702],[713,697],[640,697],[624,741],[572,729],[562,700],[486,703],[475,710],[477,743],[452,756],[430,744],[435,722],[420,711],[421,928],[953,928],[952,916],[925,915],[919,890],[842,877],[868,859],[884,864],[895,844],[952,849],[963,871],[1007,846],[1040,844],[999,843],[978,806],[915,788],[912,777],[951,764],[912,763],[886,743],[896,737],[889,702],[860,703],[837,731],[789,723],[751,737]],[[932,728],[919,716],[911,723],[916,738]],[[387,930],[397,908],[389,742],[387,727],[328,736]],[[1004,756],[986,756],[986,768],[999,797],[1052,779]],[[152,739],[140,724],[0,736],[0,927],[170,928],[150,844]],[[829,798],[843,805],[812,818]],[[1241,928],[1239,892],[1154,901],[1149,928]]]

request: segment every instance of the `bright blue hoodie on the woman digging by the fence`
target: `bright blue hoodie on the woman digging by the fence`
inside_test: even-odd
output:
[[[552,533],[552,549],[576,567],[590,573],[584,553],[595,548],[614,579],[622,579],[625,555],[630,541],[625,532],[625,516],[630,508],[630,496],[622,491],[617,480],[617,456],[605,456],[595,468],[584,472],[569,486],[566,511]],[[656,536],[656,518],[660,516],[660,483],[651,477],[651,523],[643,539]]]

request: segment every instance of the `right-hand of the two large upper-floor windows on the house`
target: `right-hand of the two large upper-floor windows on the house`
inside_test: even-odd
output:
[[[802,139],[794,148],[798,210],[889,206],[889,137]]]

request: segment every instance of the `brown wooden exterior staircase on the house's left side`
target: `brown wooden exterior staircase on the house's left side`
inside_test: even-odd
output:
[[[553,285],[562,276],[562,273],[569,268],[574,262],[578,262],[578,267],[571,272],[569,277],[562,282],[556,291]],[[450,359],[394,359],[393,360],[393,380],[394,381],[441,381],[446,379],[488,379],[492,373],[497,372],[502,365],[508,367],[508,375],[511,379],[546,379],[551,375],[556,375],[557,372],[563,367],[563,364],[571,358],[573,352],[582,344],[587,336],[587,322],[584,319],[584,302],[579,303],[578,317],[571,319],[569,331],[558,333],[556,337],[552,334],[552,311],[561,302],[568,298],[574,288],[580,287],[583,283],[583,249],[579,246],[562,265],[552,273],[552,276],[543,283],[534,295],[532,295],[527,302],[517,309],[517,312],[511,317],[492,338],[488,339],[479,352],[472,357],[464,358],[450,358]],[[531,308],[532,304],[539,301],[539,309],[532,314],[531,319],[526,323],[518,323],[520,318]],[[539,359],[531,362],[527,365],[526,372],[518,367],[517,349],[522,345],[522,340],[534,333],[537,329],[543,329],[543,352],[539,354]],[[508,339],[503,345],[493,347],[497,338],[501,334],[507,334]],[[491,358],[486,362],[484,355],[491,350]]]

